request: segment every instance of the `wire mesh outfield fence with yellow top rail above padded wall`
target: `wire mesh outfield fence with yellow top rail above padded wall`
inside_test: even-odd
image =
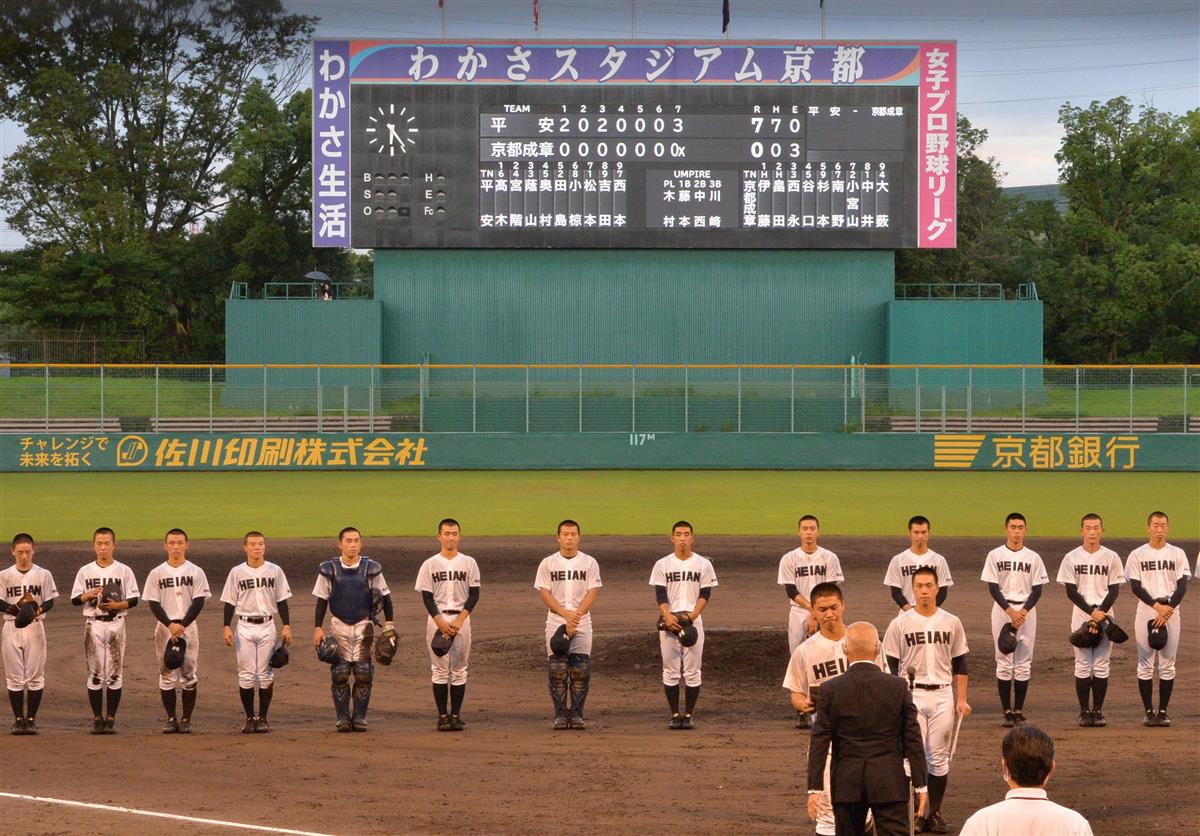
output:
[[[0,363],[0,432],[1200,433],[1196,366]]]

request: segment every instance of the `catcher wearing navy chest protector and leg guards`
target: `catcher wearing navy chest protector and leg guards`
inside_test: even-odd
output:
[[[367,705],[374,662],[371,650],[374,639],[376,599],[383,608],[388,628],[394,628],[391,590],[383,578],[383,566],[361,555],[362,535],[356,528],[343,528],[337,535],[341,554],[326,560],[317,571],[317,627],[312,646],[325,639],[322,625],[325,609],[330,611],[329,632],[337,642],[337,661],[330,666],[334,710],[337,711],[338,732],[366,732]],[[350,674],[354,674],[354,715],[350,716]]]

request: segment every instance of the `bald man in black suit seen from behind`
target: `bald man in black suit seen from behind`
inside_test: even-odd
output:
[[[821,812],[820,793],[832,742],[829,795],[839,836],[863,834],[868,810],[880,836],[910,832],[905,758],[919,799],[918,816],[925,812],[925,750],[917,709],[905,681],[878,668],[878,652],[880,634],[874,625],[850,625],[846,673],[824,682],[817,694],[809,746],[809,817],[815,820]]]

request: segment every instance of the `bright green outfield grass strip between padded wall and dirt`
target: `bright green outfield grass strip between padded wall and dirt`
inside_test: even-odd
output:
[[[787,534],[816,513],[826,534],[898,534],[923,513],[935,535],[1000,534],[1021,511],[1030,534],[1073,536],[1079,517],[1104,517],[1110,536],[1145,533],[1166,511],[1171,539],[1200,537],[1200,476],[1110,473],[898,471],[425,471],[2,474],[0,536],[86,539],[97,525],[122,540],[187,529],[196,540],[325,537],[343,525],[370,536],[432,536],[458,518],[470,535],[545,534],[574,517],[586,534],[664,534],[686,518],[697,534]]]

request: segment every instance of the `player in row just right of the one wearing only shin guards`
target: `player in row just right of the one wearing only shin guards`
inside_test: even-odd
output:
[[[708,606],[713,587],[716,587],[716,570],[713,563],[691,551],[691,523],[680,519],[671,527],[674,552],[654,564],[650,585],[659,603],[659,613],[666,630],[659,632],[659,650],[662,654],[662,685],[671,706],[670,729],[694,729],[691,715],[700,698],[701,661],[704,656],[704,623],[700,614]],[[696,627],[696,643],[684,646],[678,638],[683,625],[676,613],[686,613]],[[684,680],[684,709],[679,712],[680,670]]]

